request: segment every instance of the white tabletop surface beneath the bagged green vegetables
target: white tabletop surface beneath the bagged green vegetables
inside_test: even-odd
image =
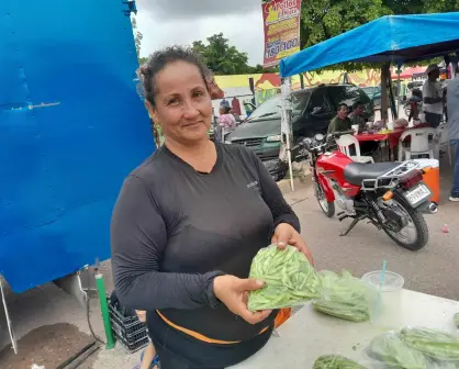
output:
[[[311,369],[321,355],[340,354],[365,365],[363,350],[377,335],[403,326],[423,326],[458,333],[454,315],[459,302],[410,290],[384,292],[374,323],[351,323],[323,315],[305,305],[282,326],[279,337],[234,369]]]

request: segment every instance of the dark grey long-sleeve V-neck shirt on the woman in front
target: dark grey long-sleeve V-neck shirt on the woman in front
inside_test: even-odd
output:
[[[125,180],[111,226],[115,289],[130,308],[159,310],[208,337],[243,340],[269,322],[249,325],[217,304],[213,278],[247,278],[275,226],[300,225],[251,150],[216,149],[210,174],[197,172],[163,146]]]

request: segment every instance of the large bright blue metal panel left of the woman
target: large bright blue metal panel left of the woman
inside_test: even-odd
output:
[[[133,9],[0,2],[0,273],[15,292],[110,257],[123,179],[154,152]]]

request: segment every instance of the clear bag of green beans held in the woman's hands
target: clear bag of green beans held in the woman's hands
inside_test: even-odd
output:
[[[258,251],[251,261],[250,278],[265,281],[265,287],[250,291],[251,311],[293,306],[317,299],[322,293],[321,280],[307,258],[295,247],[280,250],[276,245]]]

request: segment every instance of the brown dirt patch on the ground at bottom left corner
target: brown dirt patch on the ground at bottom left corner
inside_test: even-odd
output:
[[[72,324],[44,325],[18,340],[18,355],[9,346],[1,350],[1,368],[30,369],[34,364],[46,369],[59,368],[92,342],[89,335]]]

